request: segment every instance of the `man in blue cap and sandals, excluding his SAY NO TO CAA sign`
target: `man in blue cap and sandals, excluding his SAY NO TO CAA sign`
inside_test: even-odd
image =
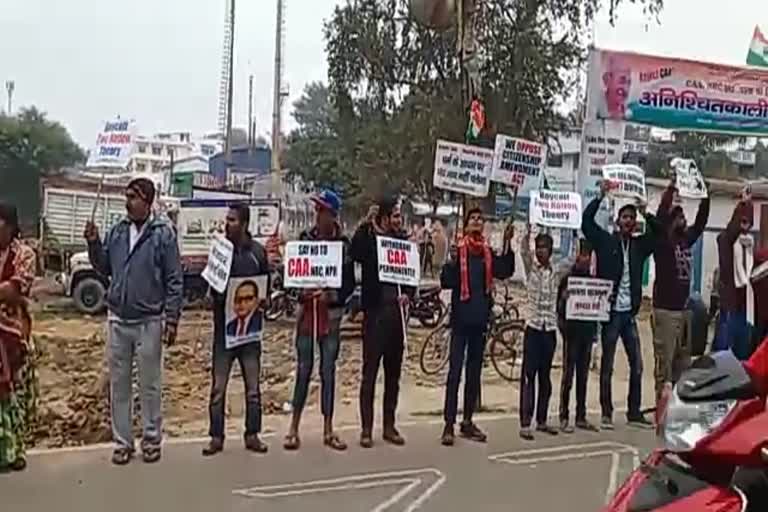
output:
[[[334,450],[346,450],[347,445],[333,431],[333,402],[336,388],[336,359],[339,356],[340,326],[344,305],[355,289],[355,267],[350,255],[349,239],[343,235],[337,222],[341,199],[325,190],[312,198],[316,221],[312,229],[304,231],[300,240],[342,243],[341,288],[304,290],[296,320],[296,386],[293,392],[293,418],[283,447],[297,450],[301,446],[299,423],[307,402],[309,381],[312,378],[314,345],[320,351],[320,409],[324,419],[323,443]],[[315,336],[317,339],[315,339]]]

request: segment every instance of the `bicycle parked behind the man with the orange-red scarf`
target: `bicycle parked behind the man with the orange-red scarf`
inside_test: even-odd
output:
[[[508,309],[517,312],[513,305]],[[525,324],[518,318],[508,319],[491,315],[487,338],[490,340],[484,358],[490,358],[496,373],[504,380],[514,382],[520,379],[517,364],[521,355]],[[425,375],[436,375],[442,371],[450,359],[452,330],[448,323],[441,324],[427,336],[421,346],[419,366]]]

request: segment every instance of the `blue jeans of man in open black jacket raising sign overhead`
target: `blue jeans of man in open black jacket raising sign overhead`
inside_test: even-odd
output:
[[[616,345],[619,337],[624,343],[629,363],[629,394],[627,397],[627,418],[641,416],[643,357],[640,351],[640,336],[637,323],[631,311],[612,312],[608,323],[603,324],[603,355],[600,362],[600,407],[603,418],[613,418],[613,365],[616,359]]]

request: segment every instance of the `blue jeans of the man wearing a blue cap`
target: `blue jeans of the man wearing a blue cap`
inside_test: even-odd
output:
[[[317,340],[320,346],[320,410],[327,418],[333,416],[340,323],[341,320],[332,320],[328,334],[318,336]],[[309,381],[312,379],[312,365],[315,360],[314,345],[311,335],[296,334],[296,385],[293,389],[293,410],[296,412],[301,412],[307,403]]]

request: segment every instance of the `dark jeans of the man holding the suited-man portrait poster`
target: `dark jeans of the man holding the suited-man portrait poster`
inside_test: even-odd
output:
[[[224,336],[213,342],[213,384],[211,401],[208,406],[212,438],[224,439],[224,406],[232,363],[240,363],[245,381],[245,435],[261,432],[261,343],[249,343],[232,350],[224,346]]]

